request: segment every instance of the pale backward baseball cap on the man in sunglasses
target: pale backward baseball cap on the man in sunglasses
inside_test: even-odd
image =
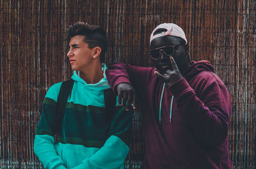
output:
[[[157,31],[157,29],[166,29],[167,31],[154,35],[154,33]],[[166,36],[166,35],[177,36],[179,38],[182,38],[182,40],[186,41],[186,43],[188,42],[188,40],[185,36],[185,33],[181,29],[181,27],[177,26],[176,24],[172,24],[172,23],[164,23],[164,24],[160,24],[152,31],[152,33],[150,35],[150,43],[155,38],[159,38],[161,36]]]

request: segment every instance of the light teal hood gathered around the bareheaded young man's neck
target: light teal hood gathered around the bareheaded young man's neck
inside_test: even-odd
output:
[[[97,84],[87,84],[79,75],[79,71],[74,71],[72,75],[72,79],[77,81],[80,85],[83,85],[86,87],[86,89],[90,91],[104,91],[106,89],[110,88],[110,85],[108,84],[108,80],[106,78],[106,70],[108,69],[106,64],[102,63],[102,71],[103,71],[103,78],[97,83]]]

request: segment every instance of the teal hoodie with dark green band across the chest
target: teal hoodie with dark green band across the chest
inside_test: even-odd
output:
[[[86,84],[74,71],[75,80],[67,100],[58,141],[56,129],[56,101],[62,82],[52,85],[42,105],[42,116],[36,129],[34,152],[45,168],[124,168],[129,152],[132,112],[118,107],[108,114],[104,90],[110,86],[104,78],[97,84]]]

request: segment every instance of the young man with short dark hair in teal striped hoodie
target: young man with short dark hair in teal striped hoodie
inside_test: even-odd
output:
[[[124,168],[132,112],[116,106],[116,97],[113,110],[106,110],[104,91],[110,86],[107,67],[101,63],[108,47],[106,33],[98,26],[76,22],[68,29],[68,43],[74,85],[59,126],[56,103],[63,82],[47,91],[36,129],[35,154],[47,169]]]

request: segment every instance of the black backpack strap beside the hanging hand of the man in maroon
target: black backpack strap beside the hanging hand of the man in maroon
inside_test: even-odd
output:
[[[105,101],[105,107],[110,115],[112,117],[113,110],[115,110],[116,107],[116,94],[112,91],[112,89],[106,89],[104,91],[104,101]]]

